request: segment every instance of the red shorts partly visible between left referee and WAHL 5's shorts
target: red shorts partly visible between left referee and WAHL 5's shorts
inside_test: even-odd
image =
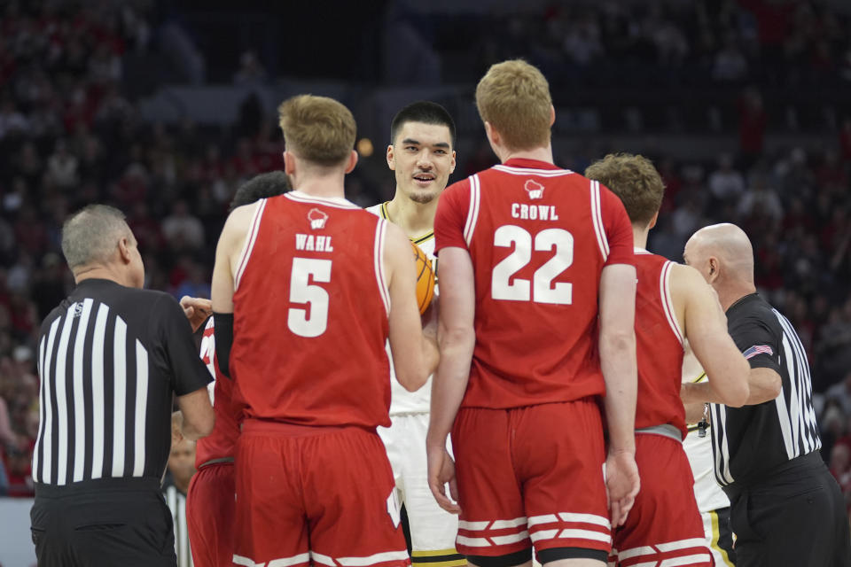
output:
[[[201,467],[186,494],[186,524],[195,567],[230,565],[234,525],[233,462]]]

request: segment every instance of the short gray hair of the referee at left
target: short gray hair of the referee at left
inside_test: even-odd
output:
[[[104,263],[122,237],[134,242],[126,217],[114,206],[89,205],[62,225],[62,253],[68,268]]]

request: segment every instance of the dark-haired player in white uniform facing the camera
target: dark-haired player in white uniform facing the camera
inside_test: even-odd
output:
[[[449,174],[455,170],[455,136],[455,123],[441,105],[419,101],[402,108],[391,122],[387,146],[387,166],[396,178],[394,198],[367,209],[399,225],[432,260],[435,271],[434,214]],[[379,428],[379,435],[408,513],[414,563],[454,567],[466,563],[455,549],[458,519],[441,509],[428,489],[426,431],[431,389],[431,380],[416,392],[391,380],[393,424]]]

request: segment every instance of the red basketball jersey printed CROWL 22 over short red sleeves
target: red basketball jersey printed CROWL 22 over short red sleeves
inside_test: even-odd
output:
[[[516,408],[605,392],[597,299],[607,264],[631,264],[621,200],[597,182],[529,159],[445,190],[436,248],[466,248],[476,346],[464,407]]]

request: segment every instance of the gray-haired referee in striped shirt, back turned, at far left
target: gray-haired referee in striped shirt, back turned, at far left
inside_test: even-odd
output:
[[[31,512],[40,566],[176,565],[160,493],[173,395],[183,435],[213,429],[209,373],[183,310],[144,291],[124,215],[87,206],[62,227],[76,288],[42,323]]]

